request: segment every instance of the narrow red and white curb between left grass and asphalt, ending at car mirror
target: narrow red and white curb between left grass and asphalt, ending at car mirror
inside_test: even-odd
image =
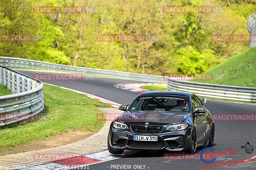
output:
[[[46,85],[52,85],[52,84],[49,84],[49,83],[44,83],[44,84],[46,84]],[[116,102],[113,102],[113,101],[110,101],[110,100],[107,100],[107,99],[103,99],[103,98],[101,98],[101,97],[98,97],[98,96],[95,96],[95,95],[92,95],[92,94],[89,94],[89,93],[80,92],[80,91],[78,91],[78,90],[74,90],[74,89],[70,89],[70,88],[66,88],[66,87],[61,87],[61,86],[58,86],[58,85],[52,85],[52,86],[56,86],[56,87],[60,87],[60,88],[62,88],[62,89],[70,90],[70,91],[72,91],[72,92],[77,92],[77,93],[80,93],[80,94],[84,94],[84,95],[86,95],[86,96],[88,96],[88,97],[90,97],[90,98],[92,98],[92,99],[94,99],[94,100],[101,101],[101,102],[103,102],[103,103],[106,103],[106,104],[108,104],[108,105],[110,105],[110,106],[113,106],[113,107],[116,107],[116,108],[119,108],[119,107],[121,106],[121,104],[118,104],[118,103],[116,103]]]

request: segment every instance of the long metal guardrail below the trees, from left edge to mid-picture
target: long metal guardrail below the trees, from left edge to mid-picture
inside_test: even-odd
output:
[[[74,73],[108,76],[108,77],[114,77],[114,78],[146,81],[146,82],[152,82],[152,83],[166,83],[166,81],[163,80],[162,76],[130,73],[130,72],[123,72],[123,71],[93,69],[93,68],[86,68],[86,67],[77,67],[77,66],[48,63],[48,62],[29,60],[29,59],[23,59],[23,58],[15,58],[15,57],[0,56],[0,65],[3,65],[8,68],[12,68],[12,69],[23,68],[23,69],[36,69],[36,70],[68,71],[68,72],[74,72]]]

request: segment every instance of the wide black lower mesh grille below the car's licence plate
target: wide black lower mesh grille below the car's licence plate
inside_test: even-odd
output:
[[[140,149],[162,149],[164,148],[164,142],[163,141],[134,141],[129,140],[128,146],[131,148],[140,148]]]

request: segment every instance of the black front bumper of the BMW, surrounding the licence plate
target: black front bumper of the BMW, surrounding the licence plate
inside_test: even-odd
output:
[[[109,129],[109,144],[116,150],[168,150],[185,151],[189,147],[191,127],[160,134],[137,134],[113,127]],[[133,136],[157,136],[157,141],[134,141]]]

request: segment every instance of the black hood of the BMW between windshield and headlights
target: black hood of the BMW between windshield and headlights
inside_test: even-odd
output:
[[[168,111],[125,111],[117,117],[121,122],[161,122],[181,123],[190,113],[168,112]]]

